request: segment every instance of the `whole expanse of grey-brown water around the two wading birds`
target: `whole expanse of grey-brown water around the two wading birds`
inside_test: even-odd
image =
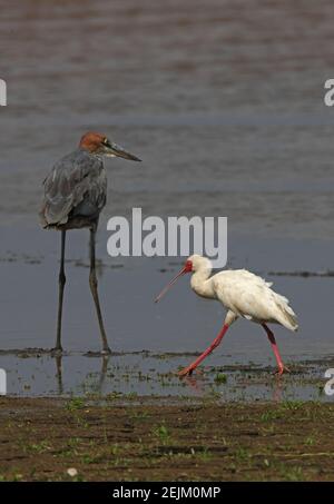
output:
[[[205,6],[0,0],[0,77],[9,92],[8,107],[0,108],[0,348],[53,345],[59,236],[38,228],[41,181],[84,131],[97,129],[144,159],[136,166],[106,161],[109,199],[98,257],[112,349],[199,352],[224,315],[218,304],[190,293],[187,279],[154,305],[181,259],[111,259],[106,219],[128,216],[132,207],[143,207],[144,215],[227,216],[228,267],[264,275],[292,300],[301,330],[276,328],[282,355],[324,363],[317,369],[322,379],[324,367],[331,367],[326,358],[334,355],[334,277],[326,276],[334,269],[334,115],[323,103],[324,81],[333,77],[332,2],[256,0],[249,9],[246,0]],[[89,373],[100,379],[100,359],[82,356],[100,347],[87,256],[87,234],[71,233],[63,320],[63,345],[71,352],[63,358],[67,394],[80,393]],[[134,358],[138,369],[149,360],[141,354],[117,358],[121,369]],[[157,373],[180,364],[153,360]],[[249,360],[273,365],[262,329],[242,320],[207,365]],[[114,357],[110,362],[112,368]],[[0,355],[1,366],[12,393],[59,392],[55,362],[46,355]],[[18,388],[16,373],[29,382],[26,392]],[[187,388],[171,382],[164,388],[156,375],[149,386],[134,377],[132,388],[118,379],[106,391],[178,394]],[[295,386],[296,396],[316,394],[316,386],[303,387]],[[256,384],[244,389],[263,394]]]

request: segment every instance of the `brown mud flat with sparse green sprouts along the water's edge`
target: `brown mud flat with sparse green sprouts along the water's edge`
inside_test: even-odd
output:
[[[331,481],[333,431],[331,403],[3,397],[0,477]]]

